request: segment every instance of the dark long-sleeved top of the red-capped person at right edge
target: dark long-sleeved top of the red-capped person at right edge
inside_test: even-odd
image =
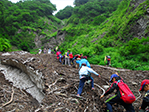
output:
[[[143,97],[143,102],[141,105],[141,109],[145,110],[145,108],[149,106],[149,90],[145,93]]]

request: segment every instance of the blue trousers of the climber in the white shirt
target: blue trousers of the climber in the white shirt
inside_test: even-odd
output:
[[[81,95],[84,83],[87,80],[91,80],[91,86],[94,87],[94,79],[91,76],[82,78],[82,79],[80,79],[80,82],[79,82],[79,88],[78,88],[78,93],[77,94]]]

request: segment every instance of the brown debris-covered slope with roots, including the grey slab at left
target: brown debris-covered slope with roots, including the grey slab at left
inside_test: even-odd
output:
[[[0,54],[0,111],[8,112],[105,112],[104,101],[111,95],[99,99],[104,85],[108,85],[112,73],[119,72],[135,94],[133,103],[136,112],[141,105],[138,89],[149,71],[131,71],[106,66],[91,65],[101,74],[92,74],[95,90],[85,84],[80,98],[76,97],[78,69],[62,65],[55,54],[32,55],[27,52]],[[115,104],[114,112],[125,112]]]

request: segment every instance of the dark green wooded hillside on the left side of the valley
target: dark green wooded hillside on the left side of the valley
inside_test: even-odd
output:
[[[30,51],[35,47],[34,32],[48,36],[45,30],[50,33],[57,29],[56,24],[60,24],[60,20],[52,15],[56,7],[49,0],[25,0],[16,4],[1,0],[0,7],[0,33],[18,49]]]

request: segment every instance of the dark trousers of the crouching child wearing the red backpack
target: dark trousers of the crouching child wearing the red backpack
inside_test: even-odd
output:
[[[119,96],[115,95],[112,96],[111,98],[109,98],[106,101],[106,105],[107,105],[107,112],[113,112],[112,110],[112,105],[114,103],[118,103],[124,106],[124,108],[126,109],[127,112],[135,112],[134,107],[132,106],[132,104],[126,104],[122,99],[120,99]]]

